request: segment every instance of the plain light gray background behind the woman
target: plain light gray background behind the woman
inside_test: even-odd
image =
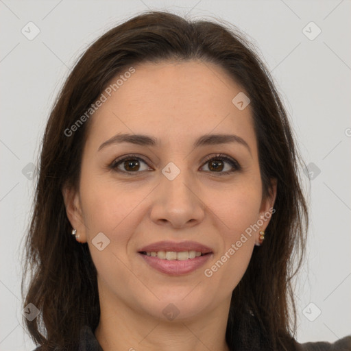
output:
[[[311,228],[295,289],[296,337],[335,341],[350,334],[350,1],[0,0],[0,350],[34,349],[21,326],[20,248],[32,204],[32,164],[53,99],[88,44],[148,8],[224,19],[258,47],[312,172],[309,181],[301,170]],[[21,32],[35,33],[29,21],[40,29],[33,40]],[[318,31],[311,21],[322,30],[314,40],[307,37]]]

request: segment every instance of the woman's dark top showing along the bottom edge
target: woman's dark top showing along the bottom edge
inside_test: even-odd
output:
[[[34,351],[40,351],[40,346]],[[104,351],[97,341],[93,330],[89,326],[82,327],[80,334],[80,346],[77,351]],[[351,351],[351,335],[328,343],[319,341],[316,343],[297,343],[296,351]]]

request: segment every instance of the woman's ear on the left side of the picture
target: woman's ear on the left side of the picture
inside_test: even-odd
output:
[[[86,243],[86,226],[82,215],[79,193],[71,186],[64,186],[62,188],[62,196],[66,207],[66,215],[72,228],[77,230],[77,234],[79,234],[79,242]]]

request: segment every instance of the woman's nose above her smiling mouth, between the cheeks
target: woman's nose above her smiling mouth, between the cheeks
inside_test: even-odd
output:
[[[188,228],[204,220],[205,204],[199,187],[186,171],[169,180],[161,173],[160,184],[153,195],[151,218],[169,228]]]

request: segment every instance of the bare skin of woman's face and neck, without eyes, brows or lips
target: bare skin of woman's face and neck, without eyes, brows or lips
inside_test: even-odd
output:
[[[63,189],[66,212],[97,267],[101,318],[95,336],[110,350],[228,350],[226,324],[233,289],[250,262],[258,230],[208,278],[211,267],[245,229],[262,219],[276,198],[263,198],[250,105],[232,99],[243,91],[221,67],[199,61],[145,63],[95,112],[82,158],[79,189]],[[248,94],[246,94],[248,95]],[[159,138],[160,146],[99,146],[120,133]],[[193,143],[205,134],[236,134],[240,143]],[[206,156],[225,154],[219,171]],[[143,158],[132,176],[108,166],[120,156]],[[180,174],[162,169],[173,162]],[[269,220],[260,230],[265,230]],[[110,244],[92,240],[103,232]],[[197,241],[213,249],[205,266],[184,276],[149,267],[138,249],[156,241]],[[173,320],[162,313],[172,303]]]

